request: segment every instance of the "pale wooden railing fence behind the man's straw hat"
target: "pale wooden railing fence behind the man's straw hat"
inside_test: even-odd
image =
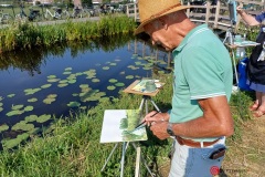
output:
[[[250,14],[257,14],[264,10],[264,0],[237,0],[239,6],[246,9]],[[190,1],[187,2],[191,6]],[[127,15],[135,18],[139,21],[138,7],[136,3],[127,4]],[[191,6],[191,9],[187,10],[187,15],[191,21],[195,23],[206,23],[212,29],[220,29],[226,31],[232,27],[227,2],[218,0],[216,6],[212,6],[211,1],[206,1],[204,6]],[[237,15],[237,22],[234,27],[235,31],[239,29],[242,19]]]

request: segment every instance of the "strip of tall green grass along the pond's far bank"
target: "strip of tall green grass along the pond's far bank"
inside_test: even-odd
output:
[[[31,49],[35,45],[51,46],[68,41],[87,41],[89,39],[130,33],[135,21],[126,15],[102,17],[99,21],[72,22],[56,25],[34,25],[33,23],[14,23],[0,29],[0,52],[17,49]]]

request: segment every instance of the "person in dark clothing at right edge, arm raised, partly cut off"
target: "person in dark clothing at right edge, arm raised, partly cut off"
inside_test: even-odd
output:
[[[251,27],[261,25],[261,31],[256,39],[256,42],[261,43],[261,45],[255,46],[250,56],[246,82],[256,94],[255,102],[250,110],[254,111],[253,116],[261,117],[265,114],[265,12],[254,17],[247,14],[241,7],[237,7],[236,11],[246,24]]]

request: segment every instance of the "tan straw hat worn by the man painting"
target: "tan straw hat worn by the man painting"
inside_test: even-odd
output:
[[[189,6],[181,6],[180,0],[138,0],[140,25],[135,34],[144,32],[144,25],[166,14],[189,9]]]

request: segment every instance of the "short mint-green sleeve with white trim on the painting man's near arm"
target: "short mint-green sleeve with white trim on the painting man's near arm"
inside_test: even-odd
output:
[[[225,95],[223,65],[218,54],[204,48],[194,46],[184,54],[182,63],[191,100]],[[199,52],[200,51],[200,52]]]

